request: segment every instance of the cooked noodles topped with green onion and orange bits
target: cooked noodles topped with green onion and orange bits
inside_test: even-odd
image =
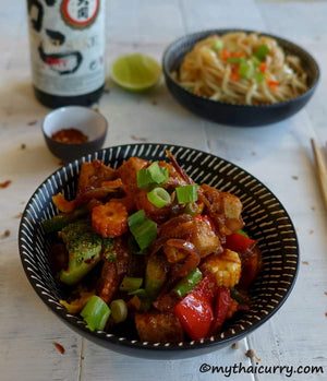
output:
[[[201,40],[173,75],[194,94],[231,104],[275,104],[307,91],[299,57],[286,55],[276,39],[257,33]]]

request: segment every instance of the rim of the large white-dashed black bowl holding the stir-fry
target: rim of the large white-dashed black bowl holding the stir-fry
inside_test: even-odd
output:
[[[95,331],[95,332],[90,332],[88,329],[86,329],[85,324],[78,324],[78,318],[76,318],[73,314],[68,313],[66,311],[64,311],[63,309],[58,309],[56,308],[55,303],[51,303],[48,299],[48,295],[47,294],[43,294],[43,291],[37,287],[37,279],[33,279],[33,277],[31,276],[27,267],[28,264],[24,261],[24,248],[22,247],[22,233],[25,229],[23,227],[23,222],[24,218],[26,218],[27,215],[27,211],[31,207],[31,205],[34,203],[34,199],[37,195],[39,189],[41,187],[44,187],[50,179],[51,177],[53,177],[57,172],[63,171],[64,169],[68,169],[70,166],[74,167],[74,166],[81,166],[82,163],[84,160],[87,160],[88,158],[90,159],[92,156],[104,152],[106,150],[114,150],[114,148],[124,148],[128,146],[131,147],[135,147],[135,146],[150,146],[150,145],[156,145],[156,146],[160,146],[161,148],[167,148],[167,147],[174,147],[177,150],[182,148],[182,150],[190,150],[190,151],[196,151],[197,153],[202,153],[205,155],[210,155],[214,157],[217,157],[218,159],[223,160],[226,164],[229,164],[240,170],[242,170],[244,172],[244,175],[249,175],[251,176],[252,179],[256,180],[262,187],[264,187],[276,200],[276,202],[278,203],[278,207],[280,210],[282,210],[282,212],[284,213],[286,217],[289,221],[289,224],[291,226],[291,230],[292,234],[294,236],[294,246],[296,247],[295,250],[295,254],[296,254],[296,264],[294,266],[294,270],[292,272],[292,278],[291,278],[291,284],[289,286],[286,286],[287,291],[283,296],[282,299],[279,300],[278,305],[276,305],[276,307],[270,310],[265,317],[261,318],[259,321],[255,321],[250,328],[245,329],[244,331],[241,331],[239,333],[233,334],[230,337],[227,338],[220,338],[220,340],[209,340],[209,338],[205,338],[205,340],[201,340],[198,342],[182,342],[183,345],[179,345],[179,343],[169,343],[169,346],[165,346],[165,344],[162,345],[160,343],[160,345],[156,346],[154,345],[154,343],[148,343],[148,342],[141,342],[140,340],[120,340],[119,336],[114,335],[114,334],[109,334],[107,332],[104,331]],[[128,156],[130,157],[130,156]],[[262,324],[264,324],[267,320],[269,320],[280,308],[281,306],[284,303],[284,301],[288,299],[288,297],[290,296],[296,278],[298,278],[298,274],[299,274],[299,263],[300,263],[300,249],[299,249],[299,240],[298,240],[298,236],[296,236],[296,231],[294,228],[294,225],[288,214],[288,212],[286,211],[284,206],[282,205],[282,203],[276,198],[276,195],[262,182],[259,181],[255,176],[251,175],[247,170],[243,169],[242,167],[220,157],[217,155],[214,155],[211,153],[205,152],[203,150],[197,150],[197,148],[193,148],[193,147],[189,147],[189,146],[183,146],[183,145],[178,145],[178,144],[165,144],[165,143],[132,143],[132,144],[119,144],[119,145],[114,145],[114,146],[108,146],[98,151],[95,151],[92,154],[85,155],[80,157],[78,159],[75,159],[73,162],[70,162],[68,164],[65,164],[64,166],[60,167],[59,169],[55,170],[51,175],[49,175],[38,187],[37,189],[34,191],[34,193],[31,195],[28,202],[26,203],[26,206],[24,209],[21,222],[20,222],[20,227],[19,227],[19,250],[20,250],[20,258],[21,258],[21,262],[25,272],[25,275],[29,282],[29,284],[32,285],[32,287],[34,288],[34,290],[36,291],[37,296],[45,302],[45,305],[50,308],[50,310],[58,315],[60,319],[62,319],[72,330],[77,331],[81,335],[84,335],[86,337],[94,337],[95,340],[104,340],[105,342],[109,342],[111,344],[118,344],[121,345],[122,347],[126,347],[126,348],[132,348],[132,349],[146,349],[147,352],[150,350],[155,350],[155,352],[162,352],[162,353],[167,353],[167,352],[182,352],[182,350],[192,350],[192,349],[201,349],[204,347],[218,347],[218,346],[223,346],[227,345],[228,343],[233,343],[235,341],[239,341],[241,338],[243,338],[244,336],[246,336],[247,334],[250,334],[251,332],[255,331],[257,328],[259,328]],[[72,318],[72,319],[69,319]],[[74,322],[73,322],[74,320]],[[82,332],[81,332],[82,331]],[[145,344],[144,344],[145,343]],[[194,355],[196,356],[196,355]],[[165,359],[165,358],[164,358]]]

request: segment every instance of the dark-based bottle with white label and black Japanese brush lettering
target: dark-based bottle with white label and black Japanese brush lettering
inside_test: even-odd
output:
[[[44,105],[88,106],[105,85],[106,0],[27,0],[32,78]]]

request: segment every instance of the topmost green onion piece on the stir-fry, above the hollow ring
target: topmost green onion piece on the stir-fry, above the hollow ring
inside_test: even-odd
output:
[[[169,179],[168,168],[162,168],[157,162],[147,168],[142,168],[136,172],[137,187],[150,190],[157,186],[164,186]]]

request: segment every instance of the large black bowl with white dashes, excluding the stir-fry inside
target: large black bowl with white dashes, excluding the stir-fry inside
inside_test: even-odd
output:
[[[165,159],[170,150],[182,167],[197,182],[206,182],[237,194],[243,202],[246,231],[257,240],[264,269],[251,287],[251,308],[238,313],[216,336],[199,342],[141,342],[130,328],[117,332],[90,332],[78,315],[66,312],[59,300],[65,297],[49,269],[49,238],[41,222],[58,213],[51,195],[75,195],[81,164],[94,158],[117,168],[130,156],[149,160]],[[282,306],[296,277],[299,249],[294,227],[280,202],[257,179],[240,167],[217,156],[193,148],[164,144],[121,145],[96,152],[70,163],[48,177],[35,191],[24,211],[20,226],[20,253],[26,276],[43,301],[71,329],[112,350],[143,358],[184,358],[203,355],[239,341],[266,322]]]

